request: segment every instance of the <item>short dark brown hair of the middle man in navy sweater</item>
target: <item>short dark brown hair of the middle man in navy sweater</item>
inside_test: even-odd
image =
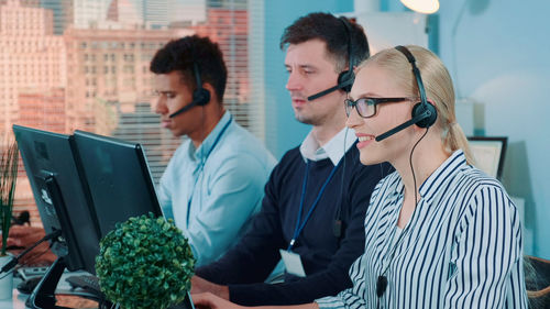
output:
[[[345,18],[340,18],[345,19]],[[351,38],[352,66],[359,65],[370,56],[369,42],[363,27],[349,19],[351,33],[344,22],[330,13],[309,13],[294,21],[280,36],[279,47],[288,44],[299,44],[309,40],[319,38],[327,44],[327,51],[336,60],[337,70],[345,70],[349,62],[348,44]]]

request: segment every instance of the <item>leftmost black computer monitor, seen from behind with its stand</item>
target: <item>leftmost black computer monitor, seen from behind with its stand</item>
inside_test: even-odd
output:
[[[46,233],[62,230],[52,251],[64,256],[69,271],[95,274],[99,230],[91,216],[91,199],[82,183],[74,139],[13,125],[21,157]]]

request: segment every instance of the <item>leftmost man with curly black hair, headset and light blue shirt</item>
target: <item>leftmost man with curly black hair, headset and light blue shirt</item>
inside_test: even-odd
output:
[[[223,107],[228,71],[218,44],[197,35],[170,41],[156,52],[151,71],[162,126],[187,137],[161,178],[160,202],[200,266],[246,230],[276,162]]]

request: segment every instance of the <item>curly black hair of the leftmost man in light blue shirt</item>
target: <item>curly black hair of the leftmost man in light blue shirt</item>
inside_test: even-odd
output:
[[[198,35],[185,36],[168,42],[158,49],[151,60],[150,69],[154,74],[179,71],[183,81],[191,89],[197,89],[194,64],[197,64],[202,82],[212,85],[221,102],[228,80],[228,69],[218,43]]]

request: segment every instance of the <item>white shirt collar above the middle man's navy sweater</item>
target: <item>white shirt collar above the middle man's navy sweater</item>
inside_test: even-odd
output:
[[[306,162],[307,159],[321,161],[330,158],[332,164],[336,166],[345,152],[348,152],[348,150],[355,143],[356,139],[358,137],[355,136],[355,132],[353,130],[344,128],[321,147],[314,137],[312,131],[310,131],[304,142],[301,142],[300,153]]]

